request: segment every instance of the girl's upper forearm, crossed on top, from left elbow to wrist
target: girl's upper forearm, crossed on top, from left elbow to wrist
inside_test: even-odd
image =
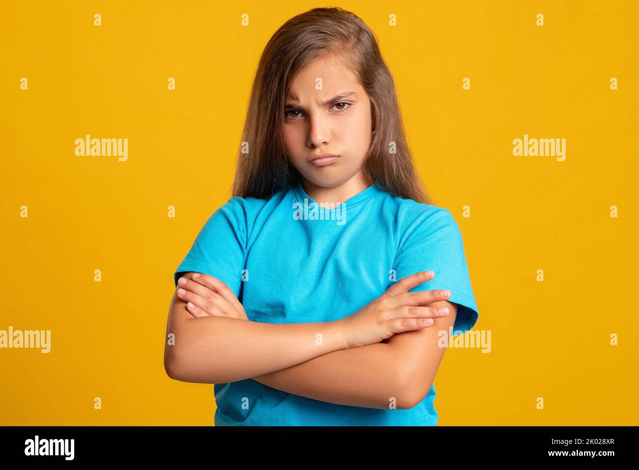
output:
[[[208,384],[249,379],[348,348],[339,322],[269,324],[229,317],[182,321],[175,341],[168,361],[173,378]]]

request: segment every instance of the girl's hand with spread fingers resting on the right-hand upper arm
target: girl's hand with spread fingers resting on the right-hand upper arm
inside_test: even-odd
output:
[[[406,276],[357,312],[337,320],[343,325],[348,346],[355,348],[379,343],[396,333],[429,327],[433,324],[432,318],[448,315],[448,308],[440,311],[439,308],[422,305],[445,301],[450,297],[450,292],[446,290],[408,292],[434,277],[433,271],[422,271]]]

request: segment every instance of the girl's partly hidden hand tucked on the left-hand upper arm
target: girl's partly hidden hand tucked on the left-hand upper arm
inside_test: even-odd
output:
[[[220,279],[208,274],[196,272],[192,279],[178,279],[178,297],[187,302],[187,310],[196,318],[231,317],[249,320],[233,291]]]

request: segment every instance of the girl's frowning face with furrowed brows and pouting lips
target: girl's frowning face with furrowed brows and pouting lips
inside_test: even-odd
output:
[[[318,59],[293,77],[286,97],[284,140],[289,160],[320,187],[364,184],[362,164],[371,145],[371,103],[357,77],[338,58]],[[317,155],[337,158],[323,166]]]

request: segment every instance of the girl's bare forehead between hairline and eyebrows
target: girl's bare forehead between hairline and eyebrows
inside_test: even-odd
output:
[[[343,56],[328,56],[312,61],[293,76],[288,97],[296,100],[296,93],[316,90],[318,79],[321,79],[321,90],[360,90],[358,78],[346,60]]]

